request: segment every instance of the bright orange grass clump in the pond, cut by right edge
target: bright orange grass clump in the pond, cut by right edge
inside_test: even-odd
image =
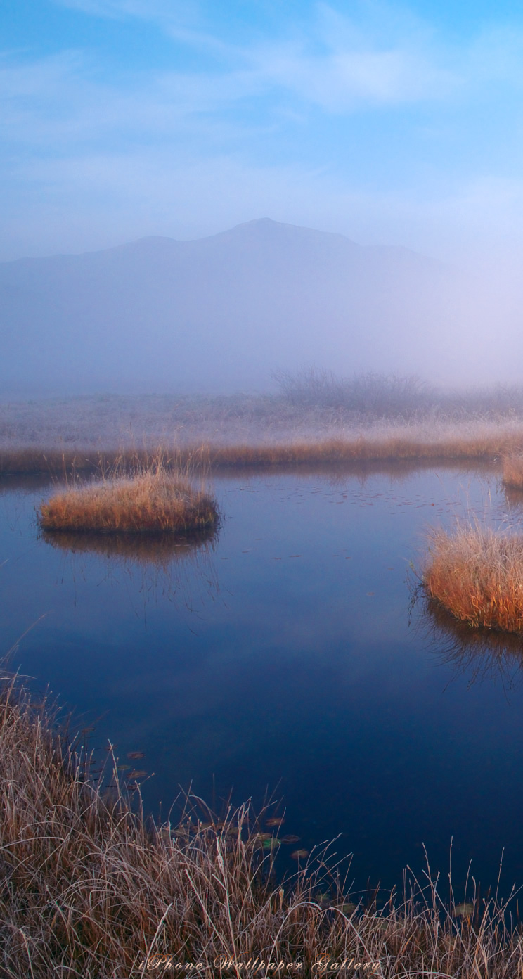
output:
[[[470,626],[523,634],[523,536],[479,525],[434,530],[429,553],[431,598]]]

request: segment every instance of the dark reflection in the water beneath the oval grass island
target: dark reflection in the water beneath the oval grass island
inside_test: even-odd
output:
[[[215,527],[198,533],[173,534],[95,534],[71,531],[42,531],[41,539],[53,547],[72,554],[101,554],[137,564],[166,568],[172,561],[181,561],[201,549],[207,549],[217,539]]]

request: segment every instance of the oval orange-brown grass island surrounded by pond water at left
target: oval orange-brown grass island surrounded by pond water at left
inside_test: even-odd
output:
[[[214,499],[162,463],[73,483],[40,506],[44,531],[184,534],[213,527]]]

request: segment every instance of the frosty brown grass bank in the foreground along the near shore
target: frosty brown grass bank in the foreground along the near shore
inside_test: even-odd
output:
[[[278,881],[279,820],[249,807],[218,820],[200,802],[205,821],[189,806],[157,825],[132,811],[112,753],[104,790],[53,721],[4,682],[2,975],[520,979],[523,935],[506,905],[474,894],[456,905],[452,887],[444,903],[431,880],[378,911],[375,894],[351,902],[324,854]]]

